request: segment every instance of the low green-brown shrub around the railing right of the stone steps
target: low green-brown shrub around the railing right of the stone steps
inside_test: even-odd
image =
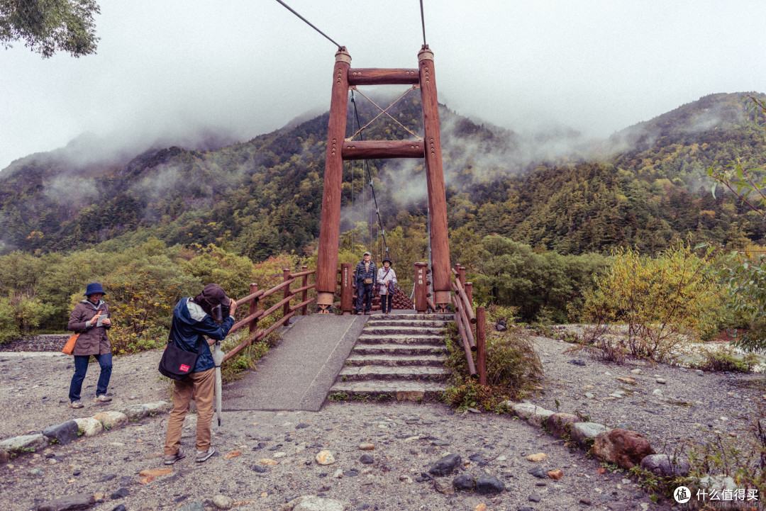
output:
[[[487,328],[487,385],[470,378],[466,353],[457,327],[452,324],[447,333],[447,367],[451,369],[446,399],[458,408],[499,410],[506,399],[519,400],[532,391],[542,378],[542,363],[528,335],[512,324],[512,309],[492,306],[487,311],[487,324],[505,319],[508,330],[497,332]],[[475,356],[475,353],[472,353]]]

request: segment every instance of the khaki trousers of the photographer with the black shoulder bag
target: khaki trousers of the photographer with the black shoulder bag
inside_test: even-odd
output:
[[[197,450],[207,451],[210,448],[210,423],[213,421],[215,369],[191,373],[188,380],[175,380],[173,383],[173,411],[170,412],[165,435],[165,454],[175,454],[181,447],[181,430],[189,411],[191,392],[194,392],[197,403]]]

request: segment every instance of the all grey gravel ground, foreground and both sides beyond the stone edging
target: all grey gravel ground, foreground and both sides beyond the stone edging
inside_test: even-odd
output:
[[[633,428],[650,438],[657,451],[683,438],[709,440],[712,431],[736,435],[763,399],[763,391],[743,388],[761,375],[697,376],[668,366],[614,366],[583,352],[563,353],[571,345],[559,340],[533,340],[546,382],[532,402],[556,410],[558,400],[562,412],[579,411],[592,421]],[[115,359],[113,402],[104,404],[92,401],[99,368],[91,364],[83,385],[85,408],[73,410],[67,399],[74,371],[71,357],[0,353],[0,439],[136,402],[168,399],[169,384],[156,372],[159,356],[155,350]],[[585,365],[570,363],[575,359]],[[656,383],[654,375],[666,384]],[[633,376],[637,385],[621,383],[617,376]],[[653,394],[658,388],[662,396]],[[626,393],[624,399],[607,400],[619,389]],[[594,399],[586,399],[584,392],[592,392]],[[690,405],[669,404],[668,399]],[[182,443],[188,451],[194,448],[195,419],[191,413],[185,424]],[[570,451],[561,440],[525,421],[508,415],[456,414],[437,403],[347,402],[328,403],[320,412],[226,412],[221,428],[214,421],[216,456],[205,464],[187,457],[171,474],[147,481],[139,474],[142,470],[165,467],[166,424],[167,415],[145,418],[0,465],[0,510],[36,509],[75,493],[95,495],[102,502],[91,509],[105,511],[119,504],[127,511],[181,509],[195,503],[213,509],[211,500],[217,495],[231,497],[237,503],[234,509],[275,511],[300,495],[341,500],[346,509],[476,509],[480,503],[496,511],[669,509],[666,501],[653,503],[624,474],[598,474],[597,461],[582,451]],[[363,442],[375,444],[375,450],[360,451]],[[334,451],[335,464],[313,461],[322,449]],[[224,456],[233,451],[241,454]],[[447,495],[435,489],[434,480],[417,481],[448,452],[462,457],[460,472],[495,476],[506,490],[489,496]],[[542,463],[525,459],[538,452],[548,455]],[[363,454],[372,455],[374,463],[362,464]],[[262,459],[277,464],[262,464]],[[528,473],[538,466],[560,469],[564,477],[538,479]],[[337,470],[342,477],[335,477]],[[449,486],[460,472],[437,479]]]

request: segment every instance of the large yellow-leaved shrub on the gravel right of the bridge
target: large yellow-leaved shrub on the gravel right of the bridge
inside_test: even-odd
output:
[[[717,274],[687,245],[654,259],[617,249],[596,285],[585,292],[582,314],[595,324],[586,341],[609,360],[667,360],[677,344],[699,340],[719,326]]]

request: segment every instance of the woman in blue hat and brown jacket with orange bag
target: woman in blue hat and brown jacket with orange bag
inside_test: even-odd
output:
[[[69,401],[72,408],[82,408],[80,402],[80,389],[83,379],[88,370],[88,360],[93,355],[101,366],[101,374],[98,377],[95,402],[107,402],[112,398],[106,395],[106,387],[112,376],[112,345],[106,330],[112,326],[109,318],[109,305],[101,298],[103,288],[98,282],[91,282],[85,288],[85,300],[80,301],[69,316],[67,330],[74,330],[80,334],[77,343],[74,344],[74,376],[69,385]]]

